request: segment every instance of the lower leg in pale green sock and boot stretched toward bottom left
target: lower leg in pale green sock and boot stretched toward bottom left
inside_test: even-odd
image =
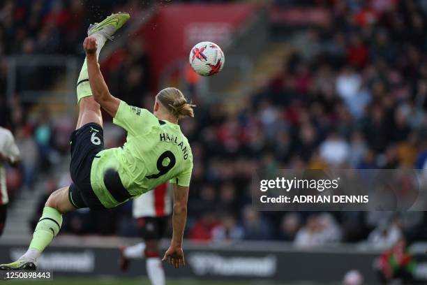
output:
[[[0,270],[36,270],[38,256],[61,229],[62,214],[75,209],[68,197],[68,187],[54,191],[47,199],[27,252],[13,263],[1,264]]]

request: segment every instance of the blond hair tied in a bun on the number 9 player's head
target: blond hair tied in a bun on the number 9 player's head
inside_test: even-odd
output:
[[[179,89],[174,87],[167,87],[156,96],[157,100],[175,117],[178,119],[185,117],[194,117],[193,108],[195,105],[187,103],[186,98],[183,96]]]

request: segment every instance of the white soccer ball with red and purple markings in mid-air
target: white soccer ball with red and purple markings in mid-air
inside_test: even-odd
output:
[[[223,70],[224,64],[224,52],[215,43],[197,43],[190,51],[190,65],[199,75],[214,75]]]

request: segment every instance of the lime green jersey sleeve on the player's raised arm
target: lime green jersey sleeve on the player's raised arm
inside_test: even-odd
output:
[[[130,106],[125,101],[120,101],[119,109],[113,118],[114,124],[121,126],[133,136],[140,135],[156,122],[158,120],[149,110]]]

